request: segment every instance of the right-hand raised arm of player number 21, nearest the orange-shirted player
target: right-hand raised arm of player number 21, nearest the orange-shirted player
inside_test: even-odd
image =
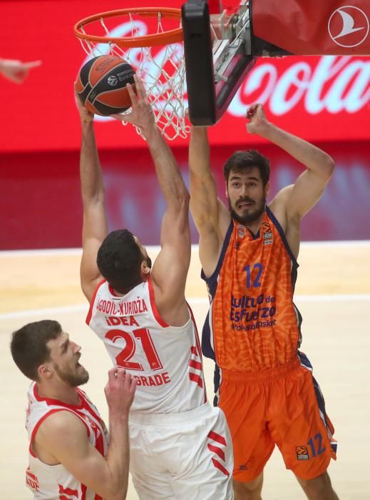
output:
[[[160,232],[161,250],[151,276],[157,288],[155,300],[160,313],[167,316],[169,311],[177,319],[177,308],[184,304],[185,280],[190,264],[189,193],[172,151],[155,124],[143,83],[137,76],[135,86],[136,95],[132,86],[127,86],[132,112],[115,118],[140,127],[153,158],[166,210]]]

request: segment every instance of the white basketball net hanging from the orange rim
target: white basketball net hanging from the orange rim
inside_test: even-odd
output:
[[[138,36],[140,26],[138,21],[128,15],[131,24],[130,36]],[[101,25],[108,36],[113,37],[109,32],[104,19],[100,19]],[[81,31],[85,34],[83,26]],[[162,33],[160,13],[158,13],[158,30]],[[190,132],[190,126],[185,124],[185,61],[183,56],[183,44],[170,44],[161,47],[139,47],[127,48],[119,47],[111,41],[105,44],[96,44],[89,40],[82,40],[81,45],[89,57],[101,55],[120,56],[128,62],[136,71],[136,74],[143,80],[148,100],[153,108],[155,122],[162,131],[166,139],[172,141],[180,136],[183,139]],[[130,110],[125,111],[129,113]],[[125,122],[122,122],[126,125]],[[140,129],[135,126],[140,136]]]

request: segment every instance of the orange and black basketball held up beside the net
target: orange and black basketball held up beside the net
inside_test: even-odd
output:
[[[126,84],[135,90],[135,71],[118,56],[98,56],[78,74],[77,93],[88,111],[101,116],[122,113],[131,106]]]

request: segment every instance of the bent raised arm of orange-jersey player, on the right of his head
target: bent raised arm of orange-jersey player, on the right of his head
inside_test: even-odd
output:
[[[284,149],[302,163],[306,170],[298,177],[294,186],[282,189],[273,201],[284,204],[287,221],[299,220],[317,204],[334,170],[333,159],[313,144],[279,129],[266,119],[261,104],[251,106],[247,111],[247,131],[258,134]]]

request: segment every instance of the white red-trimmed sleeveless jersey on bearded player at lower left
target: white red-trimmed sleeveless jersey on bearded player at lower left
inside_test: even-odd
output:
[[[108,431],[101,416],[86,394],[76,389],[81,398],[81,404],[71,406],[55,399],[41,398],[37,392],[36,383],[29,388],[26,429],[29,433],[29,468],[26,470],[26,484],[34,494],[35,500],[102,500],[101,496],[81,484],[66,469],[63,464],[47,465],[39,460],[32,451],[32,443],[38,427],[48,415],[56,411],[71,411],[78,416],[86,426],[88,440],[106,457],[108,452]]]

